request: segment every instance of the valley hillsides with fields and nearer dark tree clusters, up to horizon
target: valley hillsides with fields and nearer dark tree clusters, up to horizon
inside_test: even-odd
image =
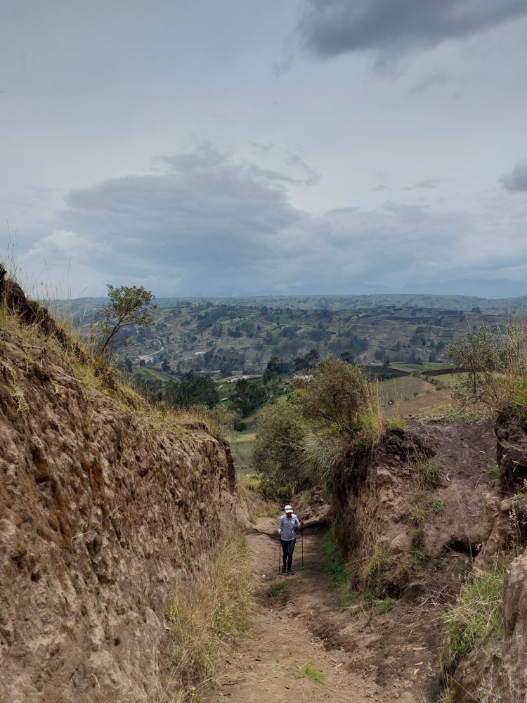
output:
[[[477,301],[481,305],[469,309],[447,309],[434,307],[450,302],[444,297],[401,298],[402,303],[419,300],[427,307],[370,297],[252,301],[257,305],[238,299],[179,300],[169,307],[162,299],[150,311],[152,324],[119,330],[113,352],[150,402],[169,408],[221,404],[228,411],[222,421],[238,430],[252,427],[258,408],[283,397],[294,374],[310,373],[330,354],[361,363],[381,379],[406,376],[382,390],[382,403],[393,414],[399,402],[450,385],[448,378],[432,379],[452,365],[446,349],[456,335],[483,325],[499,336],[509,322],[507,302],[486,301],[485,306]],[[355,307],[341,309],[345,301]],[[359,302],[365,307],[358,307]],[[88,338],[104,306],[102,301],[72,301],[67,309]],[[426,375],[412,380],[417,372]],[[448,397],[443,394],[440,401],[436,396],[436,404],[445,406]]]

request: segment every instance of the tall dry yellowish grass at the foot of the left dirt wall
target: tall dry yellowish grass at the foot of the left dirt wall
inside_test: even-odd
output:
[[[249,550],[245,535],[224,538],[216,558],[191,593],[181,589],[165,615],[174,645],[169,654],[171,678],[188,697],[214,676],[221,647],[245,630],[254,610]]]

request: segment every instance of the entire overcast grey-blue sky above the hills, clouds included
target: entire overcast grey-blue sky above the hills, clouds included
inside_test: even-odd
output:
[[[26,287],[527,295],[527,0],[4,0],[0,55]]]

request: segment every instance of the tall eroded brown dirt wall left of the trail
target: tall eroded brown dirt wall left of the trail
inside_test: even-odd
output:
[[[155,427],[2,337],[0,701],[146,700],[174,583],[244,519],[230,449],[199,425]]]

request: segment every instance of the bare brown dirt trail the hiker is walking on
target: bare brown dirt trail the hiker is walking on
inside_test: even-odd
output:
[[[378,667],[369,663],[372,659],[371,652],[366,654],[367,647],[379,646],[382,636],[356,638],[356,624],[339,611],[336,593],[324,572],[327,524],[313,521],[307,525],[304,569],[299,537],[294,575],[285,576],[278,574],[277,522],[278,518],[262,518],[248,535],[261,610],[219,667],[218,685],[209,695],[209,703],[225,699],[233,703],[329,699],[343,703],[417,702],[419,695],[410,690],[415,684],[411,674],[410,678],[394,674],[379,681]],[[270,598],[269,586],[279,582],[285,583],[285,588]],[[323,673],[325,683],[301,676],[304,664]]]

